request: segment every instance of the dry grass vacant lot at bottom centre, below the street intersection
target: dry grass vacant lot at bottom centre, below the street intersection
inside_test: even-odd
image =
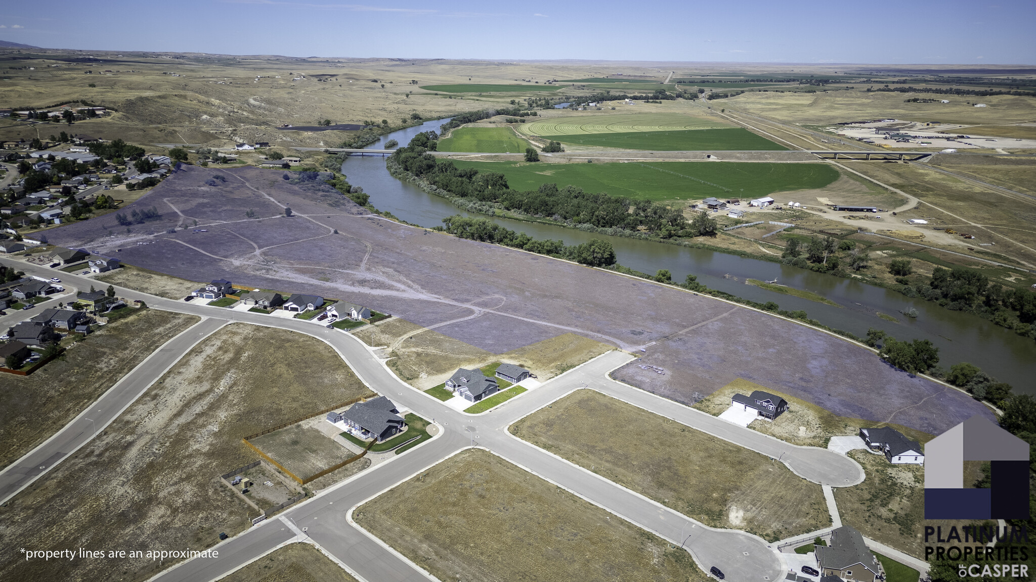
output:
[[[439,580],[704,580],[690,554],[490,453],[460,453],[354,514]]]

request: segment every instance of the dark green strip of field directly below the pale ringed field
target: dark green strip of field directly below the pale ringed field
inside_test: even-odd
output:
[[[563,144],[618,149],[680,150],[785,150],[784,146],[756,136],[744,127],[725,129],[678,129],[672,132],[625,132],[543,136]]]

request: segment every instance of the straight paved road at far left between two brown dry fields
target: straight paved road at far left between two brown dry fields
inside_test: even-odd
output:
[[[166,370],[179,361],[188,350],[226,323],[220,319],[204,319],[185,329],[147,356],[57,434],[0,471],[0,503],[6,502],[62,459],[89,442],[161,378]]]

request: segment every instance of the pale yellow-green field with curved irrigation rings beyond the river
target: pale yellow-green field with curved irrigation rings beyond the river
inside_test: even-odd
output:
[[[632,115],[591,115],[554,117],[523,123],[518,130],[526,136],[575,136],[586,134],[630,134],[674,129],[726,129],[732,125],[690,115],[635,113]]]

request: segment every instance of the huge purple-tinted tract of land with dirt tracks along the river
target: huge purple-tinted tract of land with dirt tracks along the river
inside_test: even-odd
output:
[[[214,173],[226,176],[226,183],[207,185]],[[831,402],[826,406],[846,416],[884,421],[895,413],[895,421],[926,432],[989,414],[965,395],[947,394],[938,407],[934,400],[913,406],[943,388],[906,378],[867,350],[827,333],[646,281],[377,220],[326,184],[291,184],[282,175],[190,166],[136,203],[175,206],[208,232],[166,234],[183,216],[164,209],[161,221],[133,235],[102,237],[108,231],[100,217],[55,229],[50,240],[64,245],[97,240],[91,250],[121,248],[131,264],[191,281],[223,277],[250,287],[340,297],[423,327],[439,325],[435,332],[494,354],[568,332],[628,350],[675,333],[645,356],[663,357],[660,366],[671,374],[644,383],[635,375],[624,378],[652,390],[661,381],[666,385],[659,394],[682,402],[742,377],[811,402]],[[297,215],[285,217],[260,192],[290,204]],[[242,208],[253,208],[256,220],[243,221]],[[261,219],[274,215],[281,217]],[[154,243],[127,243],[138,239]],[[209,255],[227,258],[215,263],[217,272]],[[693,336],[680,334],[731,309]],[[825,365],[802,366],[773,348],[788,342],[803,359]],[[677,346],[672,353],[670,346]],[[413,382],[420,373],[403,377]],[[700,396],[689,398],[693,392]]]

